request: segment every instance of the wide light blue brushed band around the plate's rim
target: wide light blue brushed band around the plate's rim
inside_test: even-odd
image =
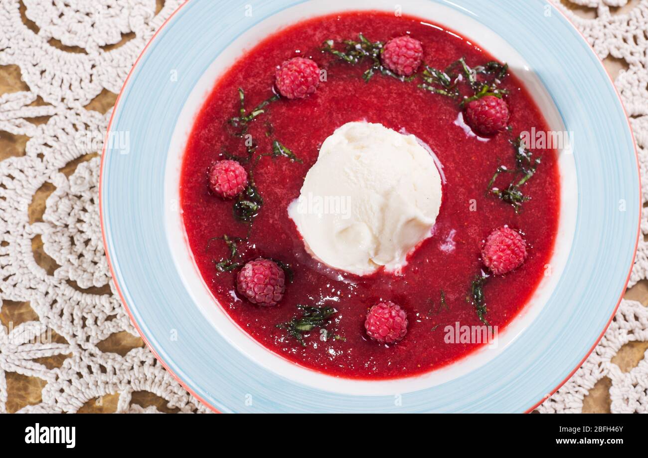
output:
[[[286,380],[240,354],[203,318],[172,262],[163,228],[166,152],[179,113],[214,58],[248,27],[300,2],[192,0],[150,44],[111,123],[131,154],[104,154],[102,226],[115,280],[146,341],[197,396],[223,412],[520,412],[570,375],[596,343],[633,261],[640,193],[634,143],[618,95],[586,42],[544,0],[431,0],[471,16],[511,43],[579,133],[577,227],[550,301],[515,342],[483,367],[422,391],[348,396]],[[443,22],[442,18],[438,18]],[[214,25],[218,27],[214,27]],[[196,45],[196,44],[199,45]],[[172,69],[182,77],[170,82]],[[619,211],[625,200],[627,211]],[[181,339],[169,338],[178,330]],[[247,394],[254,402],[246,405]],[[249,404],[249,403],[247,403]]]

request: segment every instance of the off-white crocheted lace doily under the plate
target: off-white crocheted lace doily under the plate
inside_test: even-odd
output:
[[[648,0],[629,14],[613,16],[610,7],[627,0],[572,0],[597,6],[598,18],[572,16],[601,58],[622,58],[629,69],[616,80],[639,145],[643,198],[648,198]],[[125,356],[102,352],[98,344],[113,333],[137,335],[115,295],[99,224],[99,158],[82,162],[67,177],[71,161],[97,152],[87,149],[85,134],[104,132],[110,112],[86,106],[103,90],[118,93],[128,71],[154,31],[180,0],[0,0],[0,66],[16,65],[28,91],[0,96],[0,130],[27,136],[24,156],[0,162],[0,313],[6,301],[29,302],[38,320],[15,328],[0,326],[0,413],[6,412],[6,373],[45,381],[42,402],[22,412],[76,412],[93,398],[119,393],[118,412],[151,412],[132,405],[131,395],[150,391],[181,412],[208,409],[188,394],[146,348]],[[25,16],[38,27],[27,27]],[[33,28],[33,27],[32,27]],[[131,40],[116,49],[122,34]],[[64,49],[51,45],[58,40]],[[75,48],[67,48],[75,47]],[[30,106],[40,97],[47,104]],[[30,119],[49,116],[47,123]],[[47,199],[42,221],[30,223],[28,208],[43,184],[56,189]],[[648,234],[644,215],[642,230]],[[32,239],[40,236],[45,253],[60,267],[48,274],[34,259]],[[631,285],[648,276],[648,245],[642,239]],[[74,288],[70,283],[76,283]],[[97,294],[110,285],[112,294]],[[90,292],[81,292],[78,289]],[[93,289],[94,288],[94,289]],[[41,339],[55,331],[65,343]],[[588,361],[550,400],[542,412],[580,412],[583,398],[601,378],[612,381],[613,412],[648,411],[648,361],[622,372],[610,360],[624,344],[648,340],[648,308],[623,301],[607,334]],[[60,367],[38,359],[68,355]]]

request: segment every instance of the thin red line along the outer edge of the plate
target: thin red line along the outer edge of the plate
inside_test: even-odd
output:
[[[612,77],[610,77],[607,70],[605,69],[605,65],[603,64],[603,60],[601,60],[601,58],[599,58],[598,54],[596,54],[594,49],[592,49],[589,42],[587,41],[587,39],[583,35],[583,33],[575,26],[572,19],[568,18],[568,16],[566,16],[566,14],[564,14],[564,12],[562,12],[555,5],[553,0],[548,0],[548,2],[551,4],[551,6],[553,6],[553,8],[555,10],[557,10],[563,16],[563,18],[567,19],[567,21],[572,25],[572,27],[575,30],[577,30],[577,32],[581,35],[581,38],[583,38],[584,42],[587,43],[588,47],[590,48],[590,51],[592,51],[592,53],[594,53],[594,56],[596,56],[596,59],[599,61],[599,64],[601,64],[601,68],[603,69],[605,75],[607,75],[608,79],[610,80],[610,83],[612,84],[612,87],[614,88],[614,91],[616,92],[616,95],[617,95],[617,97],[619,99],[619,102],[621,103],[621,108],[623,108],[623,113],[625,114],[625,117],[626,117],[626,120],[627,120],[627,123],[628,123],[628,128],[629,128],[631,136],[632,136],[632,143],[634,145],[634,155],[635,155],[636,160],[637,160],[637,170],[638,170],[638,173],[639,173],[639,195],[640,195],[639,212],[640,212],[640,215],[641,215],[641,212],[643,210],[643,195],[642,195],[642,185],[641,185],[642,176],[641,176],[641,169],[640,169],[640,163],[639,163],[639,154],[638,154],[638,151],[637,151],[636,141],[634,139],[634,132],[632,131],[632,126],[630,124],[630,118],[628,116],[627,110],[625,109],[625,105],[623,104],[623,99],[621,99],[621,95],[619,94],[619,91],[616,88],[616,85],[614,84],[614,80],[612,80]],[[163,361],[163,359],[157,354],[155,348],[153,348],[153,346],[148,342],[148,339],[146,339],[146,336],[144,335],[142,330],[139,328],[139,326],[137,324],[137,321],[135,320],[135,318],[133,317],[132,312],[130,311],[130,307],[128,307],[128,304],[126,304],[126,300],[124,299],[124,295],[122,294],[121,288],[119,287],[119,283],[117,282],[117,277],[115,276],[115,270],[113,269],[113,263],[110,260],[110,254],[108,252],[108,244],[106,243],[106,229],[104,228],[103,206],[101,204],[101,202],[102,202],[102,180],[103,180],[103,176],[104,176],[104,163],[105,163],[105,160],[106,160],[106,148],[107,148],[107,145],[108,145],[108,135],[110,134],[110,127],[111,127],[111,125],[113,123],[115,113],[117,113],[117,106],[119,105],[119,101],[121,100],[122,94],[124,93],[124,88],[126,88],[126,86],[128,85],[128,81],[130,80],[130,77],[133,74],[133,71],[135,70],[135,67],[137,67],[137,64],[141,60],[142,56],[146,53],[146,51],[150,47],[151,43],[156,39],[159,32],[170,22],[170,20],[174,16],[176,16],[176,13],[178,13],[179,10],[181,10],[181,8],[183,8],[183,6],[187,5],[187,3],[189,3],[189,0],[185,0],[184,3],[182,3],[182,5],[178,6],[178,8],[174,12],[172,12],[172,14],[162,23],[162,25],[159,27],[159,29],[156,30],[155,34],[151,37],[151,39],[148,40],[148,43],[146,43],[146,46],[144,47],[144,49],[141,51],[139,56],[137,56],[137,60],[135,60],[135,64],[133,64],[133,67],[128,72],[128,76],[126,77],[126,80],[124,80],[124,84],[123,84],[121,90],[119,91],[119,95],[117,95],[117,100],[115,101],[115,107],[113,108],[113,113],[110,116],[110,121],[108,121],[108,128],[106,129],[106,138],[104,138],[104,147],[102,149],[101,167],[100,167],[100,171],[99,171],[99,219],[100,219],[100,225],[101,225],[101,236],[102,236],[102,240],[103,240],[103,243],[104,243],[104,252],[106,254],[106,260],[108,261],[108,267],[110,268],[110,273],[111,273],[111,275],[113,277],[113,280],[115,280],[115,289],[117,289],[117,294],[119,295],[119,298],[121,299],[122,305],[124,306],[124,309],[126,310],[126,313],[128,313],[128,317],[130,317],[130,320],[131,320],[133,326],[135,326],[135,329],[137,330],[137,333],[139,333],[140,337],[142,338],[142,340],[144,341],[146,346],[148,346],[148,349],[152,352],[153,356],[156,357],[157,361],[159,361],[161,363],[161,365],[165,368],[165,370],[167,370],[167,372],[169,374],[171,374],[171,376],[176,381],[178,381],[178,383],[185,390],[187,390],[192,396],[194,396],[194,398],[196,398],[200,402],[202,402],[202,404],[209,407],[209,409],[214,411],[214,413],[221,413],[220,411],[218,411],[218,409],[216,409],[216,407],[211,405],[209,402],[205,401],[202,397],[198,396],[198,394],[196,394],[196,392],[194,392],[187,385],[187,383],[185,383],[185,381],[181,380],[168,367],[167,363],[165,363],[165,361]],[[603,339],[603,335],[605,335],[605,333],[607,332],[608,328],[610,327],[610,323],[612,323],[612,319],[614,319],[614,316],[616,315],[616,312],[619,309],[619,306],[621,305],[621,300],[623,300],[623,296],[625,295],[625,290],[627,289],[627,285],[628,285],[628,283],[630,281],[630,276],[632,274],[632,267],[634,267],[634,259],[636,258],[637,249],[639,247],[640,234],[641,234],[641,218],[639,219],[639,225],[638,225],[638,228],[637,228],[637,237],[636,237],[636,241],[634,243],[634,254],[632,255],[633,261],[632,261],[632,265],[630,267],[630,271],[628,272],[628,276],[627,276],[627,278],[625,280],[625,283],[623,285],[623,290],[621,291],[621,296],[619,296],[619,300],[618,300],[616,306],[614,307],[614,311],[612,312],[612,316],[608,320],[608,322],[605,325],[605,328],[603,329],[603,331],[601,331],[601,335],[599,335],[599,337],[596,339],[596,342],[592,345],[592,348],[590,348],[590,350],[588,350],[588,352],[583,357],[583,359],[578,364],[578,366],[575,367],[572,370],[572,372],[570,372],[570,374],[563,381],[561,381],[561,383],[557,387],[555,387],[555,389],[553,389],[550,393],[548,393],[546,396],[544,396],[544,398],[542,398],[539,402],[537,402],[537,404],[533,405],[533,407],[531,407],[530,409],[527,409],[525,411],[525,413],[530,413],[533,410],[535,410],[538,407],[538,405],[545,402],[556,391],[558,391],[562,387],[562,385],[564,385],[568,380],[570,380],[570,378],[572,378],[573,374],[575,374],[576,371],[579,370],[579,368],[583,365],[583,363],[588,359],[588,357],[590,357],[590,354],[592,354],[592,352],[594,351],[594,348],[596,348],[596,346],[599,344],[601,339]]]

